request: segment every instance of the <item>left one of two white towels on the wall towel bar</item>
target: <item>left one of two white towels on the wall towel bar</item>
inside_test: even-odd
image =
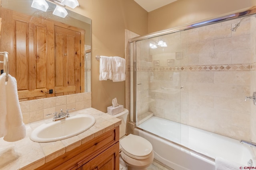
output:
[[[112,78],[112,57],[100,56],[100,80]]]

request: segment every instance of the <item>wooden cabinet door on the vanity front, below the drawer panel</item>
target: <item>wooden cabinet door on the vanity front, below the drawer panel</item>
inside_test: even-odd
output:
[[[82,170],[119,170],[119,143],[84,164]]]

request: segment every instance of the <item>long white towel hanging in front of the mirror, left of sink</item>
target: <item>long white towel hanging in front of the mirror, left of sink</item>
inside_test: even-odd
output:
[[[6,84],[6,111],[8,127],[4,140],[14,142],[26,137],[26,127],[22,121],[22,112],[18,99],[17,81],[10,74]]]

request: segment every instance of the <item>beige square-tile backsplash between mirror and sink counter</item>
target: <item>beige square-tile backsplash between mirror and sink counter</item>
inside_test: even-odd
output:
[[[65,111],[66,109],[75,108],[74,111],[76,111],[91,106],[91,92],[20,102],[25,124],[53,117],[54,115],[46,116],[46,114],[59,112],[60,109]]]

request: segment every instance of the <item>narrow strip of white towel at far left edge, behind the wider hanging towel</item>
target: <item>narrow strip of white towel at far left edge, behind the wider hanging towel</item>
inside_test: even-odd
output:
[[[0,137],[7,134],[5,73],[0,75]]]

